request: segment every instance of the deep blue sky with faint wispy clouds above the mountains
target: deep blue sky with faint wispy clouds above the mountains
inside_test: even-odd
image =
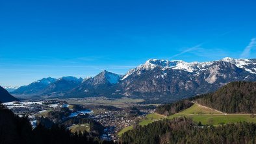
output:
[[[256,57],[256,2],[0,1],[0,85],[125,74],[149,58]]]

